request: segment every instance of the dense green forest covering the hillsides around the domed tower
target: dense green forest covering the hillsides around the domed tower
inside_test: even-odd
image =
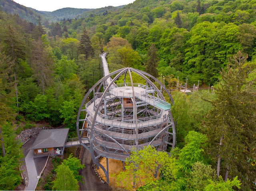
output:
[[[134,67],[164,76],[172,89],[177,77],[214,85],[214,95],[173,93],[177,148],[169,150],[161,179],[140,189],[256,189],[254,0],[136,0],[59,22],[11,3],[26,20],[0,10],[1,190],[21,181],[20,122],[64,124],[76,136],[77,111],[102,75],[103,51],[110,72]]]

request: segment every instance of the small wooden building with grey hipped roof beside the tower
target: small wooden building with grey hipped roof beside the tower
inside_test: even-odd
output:
[[[30,149],[34,150],[34,157],[62,155],[69,128],[41,130]]]

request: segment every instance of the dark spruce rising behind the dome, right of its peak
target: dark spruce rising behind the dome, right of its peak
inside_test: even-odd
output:
[[[145,63],[145,71],[151,74],[154,77],[158,77],[158,53],[156,46],[154,43],[151,44],[148,53],[147,53],[148,60]]]

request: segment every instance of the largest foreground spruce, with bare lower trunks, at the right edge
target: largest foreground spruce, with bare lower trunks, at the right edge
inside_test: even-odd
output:
[[[222,69],[222,81],[216,87],[214,109],[206,116],[203,126],[209,141],[209,152],[217,162],[217,175],[238,178],[243,185],[255,189],[256,177],[256,92],[248,80],[252,71],[246,64],[247,55],[239,51]]]

